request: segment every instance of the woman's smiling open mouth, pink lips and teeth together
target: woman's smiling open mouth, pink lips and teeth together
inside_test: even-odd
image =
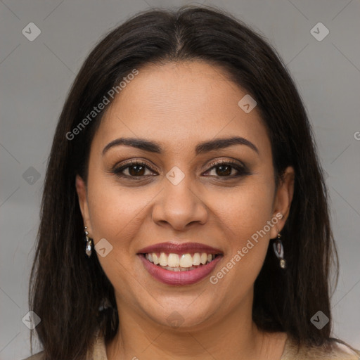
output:
[[[148,273],[167,285],[190,285],[208,276],[224,254],[199,243],[160,243],[137,254]]]

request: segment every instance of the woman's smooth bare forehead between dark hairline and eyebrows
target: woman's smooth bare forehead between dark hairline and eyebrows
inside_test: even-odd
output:
[[[242,136],[266,153],[270,142],[257,109],[245,113],[238,105],[245,95],[224,70],[205,62],[146,65],[109,105],[94,146],[131,136],[156,140],[170,153]]]

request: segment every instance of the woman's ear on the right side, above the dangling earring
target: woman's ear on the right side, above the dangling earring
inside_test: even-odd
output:
[[[278,184],[278,189],[274,198],[274,212],[272,215],[272,218],[276,217],[279,219],[280,213],[282,214],[282,217],[278,220],[276,226],[271,228],[270,238],[276,238],[278,236],[278,232],[283,229],[286,219],[288,219],[294,195],[294,181],[295,171],[293,167],[287,167],[283,174],[283,179],[281,179]]]

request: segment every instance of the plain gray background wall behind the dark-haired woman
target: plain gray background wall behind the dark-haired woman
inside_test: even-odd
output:
[[[152,6],[183,4],[189,3],[0,1],[1,360],[30,354],[30,330],[22,319],[29,311],[27,285],[41,189],[58,115],[75,74],[98,39],[129,15]],[[327,173],[340,253],[340,281],[333,296],[334,336],[360,349],[360,2],[203,4],[224,8],[264,34],[295,78]],[[319,22],[330,31],[322,41],[310,32]],[[34,41],[22,33],[29,23],[41,30]]]

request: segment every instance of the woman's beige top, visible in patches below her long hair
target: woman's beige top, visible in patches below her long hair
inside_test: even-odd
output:
[[[350,347],[340,340],[333,344],[331,348],[326,347],[300,347],[297,352],[297,345],[287,338],[283,354],[279,360],[360,360],[360,351]],[[24,360],[42,360],[42,352],[28,357]],[[106,356],[105,340],[102,336],[97,336],[94,340],[94,348],[88,354],[87,360],[108,360]]]

